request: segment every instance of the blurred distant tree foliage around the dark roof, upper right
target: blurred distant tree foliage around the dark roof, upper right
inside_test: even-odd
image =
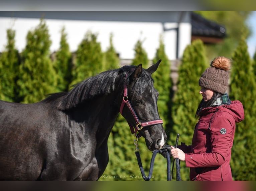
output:
[[[246,19],[251,11],[195,11],[204,18],[225,26],[226,37],[222,43],[206,45],[207,57],[213,60],[217,56],[230,58],[237,46],[240,37],[251,34]]]

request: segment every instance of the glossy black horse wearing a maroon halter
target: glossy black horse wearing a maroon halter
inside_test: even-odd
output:
[[[140,64],[105,71],[37,103],[0,101],[0,179],[98,180],[109,161],[107,141],[121,105],[148,149],[160,149],[166,134],[151,77],[160,62],[148,69]],[[127,99],[132,110],[122,103]]]

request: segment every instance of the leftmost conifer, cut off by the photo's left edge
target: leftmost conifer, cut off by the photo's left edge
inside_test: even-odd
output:
[[[6,50],[0,56],[0,99],[16,102],[20,59],[14,38],[15,31],[8,29]]]

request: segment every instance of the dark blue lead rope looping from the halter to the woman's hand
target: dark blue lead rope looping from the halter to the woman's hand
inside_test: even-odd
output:
[[[177,134],[177,138],[176,138],[176,145],[175,148],[177,148],[177,144],[178,144],[178,137],[179,134]],[[170,160],[170,153],[168,150],[171,150],[171,146],[170,145],[165,145],[162,149],[159,150],[154,150],[152,157],[151,157],[151,162],[150,162],[150,167],[149,167],[149,173],[148,176],[146,176],[144,168],[142,166],[142,162],[141,162],[141,158],[140,158],[140,152],[139,152],[139,148],[138,148],[138,139],[134,139],[133,143],[136,145],[135,148],[135,155],[137,157],[137,161],[138,161],[138,165],[140,168],[140,172],[141,175],[143,177],[144,180],[149,181],[152,177],[152,173],[153,173],[153,167],[154,167],[154,161],[155,161],[155,157],[157,153],[162,153],[163,151],[167,152],[166,155],[166,159],[167,159],[167,180],[170,181],[172,179],[172,173],[173,173],[173,166],[174,166],[174,159],[173,159],[173,165],[172,165],[172,172],[171,172],[171,160]],[[180,166],[179,166],[179,159],[176,159],[176,180],[180,181]]]

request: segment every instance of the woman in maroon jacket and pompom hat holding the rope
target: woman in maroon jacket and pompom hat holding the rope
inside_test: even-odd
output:
[[[176,149],[171,146],[171,154],[190,167],[190,180],[233,180],[231,148],[236,122],[244,119],[244,109],[240,101],[230,101],[225,93],[231,61],[218,57],[210,66],[199,79],[203,99],[196,112],[199,120],[192,144],[181,143]]]

